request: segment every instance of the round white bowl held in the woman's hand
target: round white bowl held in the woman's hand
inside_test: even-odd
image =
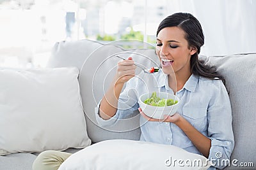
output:
[[[171,106],[151,106],[149,104],[145,104],[144,101],[152,96],[152,92],[142,94],[139,97],[139,105],[143,113],[145,113],[148,117],[157,118],[157,119],[163,119],[164,115],[174,115],[176,113],[180,99],[173,95],[169,94],[167,92],[156,92],[157,97],[160,97],[160,99],[173,99],[175,101],[178,101],[178,103],[173,104]]]

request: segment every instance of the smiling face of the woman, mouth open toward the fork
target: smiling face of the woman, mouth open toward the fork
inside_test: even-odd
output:
[[[179,27],[165,27],[156,39],[156,53],[166,74],[189,71],[190,58],[196,50],[189,48],[185,32]]]

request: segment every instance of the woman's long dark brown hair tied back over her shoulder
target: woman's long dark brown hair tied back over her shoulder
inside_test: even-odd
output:
[[[211,80],[222,80],[225,83],[223,76],[216,72],[216,67],[207,66],[203,60],[198,59],[200,48],[204,45],[204,33],[200,22],[193,15],[190,13],[174,13],[164,18],[158,26],[156,36],[165,27],[179,27],[182,29],[185,32],[188,46],[197,49],[190,59],[191,73]]]

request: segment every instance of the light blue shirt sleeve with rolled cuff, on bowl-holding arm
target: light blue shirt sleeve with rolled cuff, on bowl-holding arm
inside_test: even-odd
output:
[[[214,97],[207,111],[208,135],[211,139],[209,160],[214,167],[223,169],[228,166],[230,155],[234,149],[232,130],[232,111],[227,90],[221,81],[216,85]]]

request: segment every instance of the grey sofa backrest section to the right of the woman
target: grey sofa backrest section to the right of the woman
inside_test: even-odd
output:
[[[234,169],[231,161],[236,159],[237,165],[241,162],[256,165],[256,53],[202,59],[224,76],[230,96],[235,147],[227,169]]]

